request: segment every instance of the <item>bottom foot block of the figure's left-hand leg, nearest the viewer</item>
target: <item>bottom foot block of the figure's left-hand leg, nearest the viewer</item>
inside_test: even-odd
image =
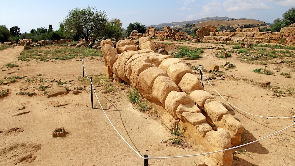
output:
[[[230,134],[225,129],[218,129],[218,131],[210,131],[206,134],[205,139],[207,144],[215,147],[214,150],[222,150],[231,148]],[[212,160],[215,165],[232,165],[232,150],[210,154],[216,160]]]

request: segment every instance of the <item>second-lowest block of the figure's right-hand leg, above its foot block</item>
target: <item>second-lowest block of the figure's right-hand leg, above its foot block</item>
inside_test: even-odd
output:
[[[222,103],[215,99],[206,100],[204,111],[208,114],[210,119],[212,119],[213,123],[220,121],[223,115],[230,114]]]

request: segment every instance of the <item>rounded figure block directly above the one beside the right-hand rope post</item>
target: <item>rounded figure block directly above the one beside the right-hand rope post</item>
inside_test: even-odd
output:
[[[187,66],[183,62],[171,65],[167,69],[166,73],[169,75],[170,78],[172,78],[172,80],[176,83],[176,85],[179,84],[179,82],[181,81],[183,75],[185,75],[186,73],[193,74],[193,72],[191,71],[189,66]]]

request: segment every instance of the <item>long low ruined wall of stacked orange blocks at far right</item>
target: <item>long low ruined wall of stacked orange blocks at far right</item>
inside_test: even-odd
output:
[[[205,29],[206,26],[200,28]],[[199,29],[199,30],[200,30]],[[199,31],[198,30],[198,31]],[[197,31],[197,32],[198,32]],[[280,32],[260,32],[259,28],[237,28],[236,32],[216,32],[211,29],[204,36],[204,42],[255,42],[255,43],[279,43],[295,44],[295,24],[281,28]],[[199,36],[199,34],[197,33]],[[199,36],[202,38],[202,36]]]

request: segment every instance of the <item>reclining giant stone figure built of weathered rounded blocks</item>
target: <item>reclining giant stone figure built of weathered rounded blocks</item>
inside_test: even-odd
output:
[[[204,91],[186,63],[155,53],[150,37],[139,38],[139,47],[130,39],[119,40],[116,48],[111,40],[103,40],[107,78],[135,87],[157,107],[165,126],[183,128],[186,141],[203,152],[241,144],[242,124]],[[232,150],[209,155],[212,163],[220,166],[232,165],[232,157]]]

